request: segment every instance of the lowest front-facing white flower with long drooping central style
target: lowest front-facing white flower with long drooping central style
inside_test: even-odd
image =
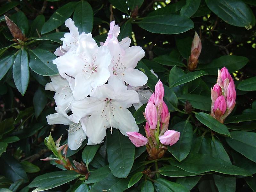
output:
[[[131,112],[127,109],[132,103],[139,102],[138,94],[127,90],[127,86],[120,81],[108,81],[108,84],[97,87],[90,97],[72,103],[74,116],[82,118],[91,115],[86,125],[89,138],[88,145],[101,143],[106,136],[106,129],[119,129],[126,132],[138,132],[139,128]]]

